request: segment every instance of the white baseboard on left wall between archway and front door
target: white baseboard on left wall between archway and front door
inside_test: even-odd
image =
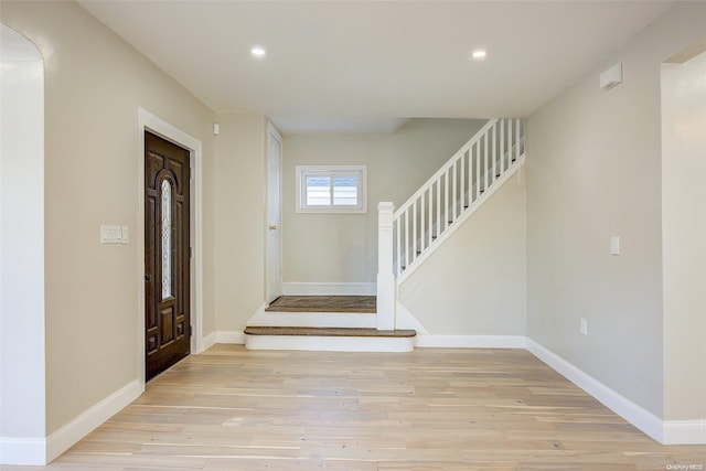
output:
[[[131,381],[113,393],[46,439],[46,461],[51,462],[78,440],[119,413],[125,406],[137,399],[143,390],[143,383]]]

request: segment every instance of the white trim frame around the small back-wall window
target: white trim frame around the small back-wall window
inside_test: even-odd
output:
[[[331,213],[331,214],[366,214],[367,213],[367,165],[296,165],[297,178],[297,213]],[[359,204],[353,205],[307,205],[308,176],[359,176]],[[333,195],[332,195],[333,197]]]

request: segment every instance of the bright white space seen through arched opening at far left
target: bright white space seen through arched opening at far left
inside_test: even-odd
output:
[[[0,29],[0,457],[44,464],[44,62]]]

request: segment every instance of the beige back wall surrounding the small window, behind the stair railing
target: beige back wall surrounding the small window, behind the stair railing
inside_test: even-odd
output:
[[[284,137],[284,281],[374,282],[377,203],[403,204],[483,125],[413,119],[392,135]],[[297,214],[295,165],[367,165],[367,214]]]

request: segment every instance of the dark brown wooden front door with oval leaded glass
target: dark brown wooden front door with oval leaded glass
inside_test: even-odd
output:
[[[190,353],[189,151],[145,132],[146,379]]]

